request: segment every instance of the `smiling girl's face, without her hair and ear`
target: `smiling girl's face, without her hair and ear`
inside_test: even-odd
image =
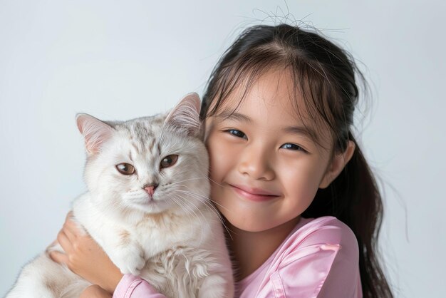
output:
[[[296,116],[289,86],[284,71],[266,73],[240,105],[244,86],[206,120],[211,198],[241,230],[259,232],[297,219],[318,187],[331,182],[328,133],[318,135],[327,149],[311,140],[318,130]],[[303,108],[301,114],[305,119]]]

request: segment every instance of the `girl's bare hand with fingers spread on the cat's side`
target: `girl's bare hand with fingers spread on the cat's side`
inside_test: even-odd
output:
[[[98,284],[107,292],[113,293],[123,274],[98,243],[71,220],[72,216],[73,213],[69,212],[62,230],[57,235],[65,253],[49,252],[51,259],[59,264],[66,264],[71,271],[88,282]]]

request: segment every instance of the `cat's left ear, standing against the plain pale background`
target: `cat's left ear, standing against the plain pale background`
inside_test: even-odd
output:
[[[76,124],[83,138],[85,138],[85,148],[90,154],[99,153],[100,146],[111,138],[115,130],[98,118],[84,113],[76,115]]]

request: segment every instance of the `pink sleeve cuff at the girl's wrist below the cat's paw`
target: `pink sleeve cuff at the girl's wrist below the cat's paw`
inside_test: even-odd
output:
[[[166,298],[140,277],[125,274],[113,293],[113,298]]]

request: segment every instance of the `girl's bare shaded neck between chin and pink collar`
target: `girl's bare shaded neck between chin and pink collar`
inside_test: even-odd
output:
[[[230,230],[229,250],[232,252],[237,267],[236,281],[244,279],[258,269],[261,264],[264,264],[277,247],[284,242],[291,230],[296,227],[299,220],[300,216],[283,225],[261,232],[239,230],[230,222],[225,222]]]

